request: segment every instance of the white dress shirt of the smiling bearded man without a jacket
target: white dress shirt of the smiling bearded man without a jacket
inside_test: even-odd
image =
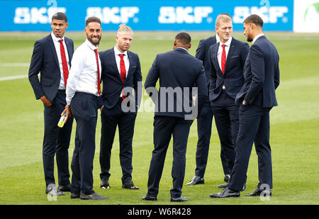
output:
[[[94,94],[99,96],[97,88],[97,63],[94,50],[98,47],[93,45],[89,40],[85,40],[77,50],[75,50],[72,57],[72,67],[69,71],[69,78],[67,79],[67,104],[71,100],[76,91]],[[98,53],[99,57],[99,53]],[[99,57],[99,72],[101,81],[101,60]]]

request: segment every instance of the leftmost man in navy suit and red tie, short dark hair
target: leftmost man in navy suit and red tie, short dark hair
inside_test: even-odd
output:
[[[62,191],[70,191],[68,149],[73,119],[67,120],[63,128],[57,127],[67,105],[65,87],[74,51],[73,41],[65,37],[68,25],[65,13],[57,12],[52,16],[52,33],[35,42],[28,74],[35,98],[44,105],[43,169],[45,192],[50,195],[64,195]],[[59,188],[55,186],[55,155]]]

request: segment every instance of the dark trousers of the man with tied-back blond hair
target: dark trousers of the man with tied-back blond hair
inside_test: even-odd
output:
[[[111,176],[111,150],[113,146],[116,127],[120,138],[120,162],[122,167],[122,183],[132,179],[132,142],[136,113],[124,113],[121,109],[122,101],[118,101],[111,109],[106,107],[101,112],[101,145],[100,145],[100,165],[101,180]]]

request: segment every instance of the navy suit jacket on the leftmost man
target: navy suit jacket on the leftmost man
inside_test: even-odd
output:
[[[65,37],[65,44],[67,45],[67,54],[71,65],[74,52],[73,41]],[[40,82],[38,79],[39,72]],[[60,85],[61,72],[51,34],[35,41],[28,77],[36,99],[40,99],[43,95],[49,101],[55,98]]]

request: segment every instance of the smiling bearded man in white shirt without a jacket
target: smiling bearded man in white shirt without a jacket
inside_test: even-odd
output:
[[[71,198],[108,199],[93,190],[93,159],[99,96],[101,96],[101,61],[98,46],[102,28],[99,18],[86,19],[86,40],[74,52],[67,79],[67,118],[77,120],[75,148],[72,157]]]

